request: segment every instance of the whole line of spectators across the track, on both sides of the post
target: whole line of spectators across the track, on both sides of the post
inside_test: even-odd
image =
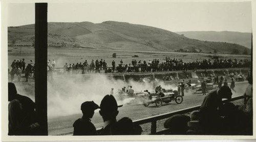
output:
[[[64,74],[90,74],[90,73],[143,73],[143,72],[167,72],[177,70],[197,70],[197,69],[217,69],[217,68],[242,68],[249,67],[250,60],[248,59],[204,59],[203,61],[189,61],[184,62],[182,59],[171,59],[166,57],[160,62],[159,59],[151,60],[139,60],[132,59],[131,63],[124,63],[122,59],[119,63],[115,60],[112,61],[112,66],[109,67],[105,60],[92,60],[90,63],[86,60],[83,63],[69,64],[66,63],[63,66]],[[26,66],[25,59],[14,60],[11,64],[11,70],[8,69],[8,73],[11,75],[11,81],[14,79],[14,75],[18,77],[20,81],[22,73],[25,73],[26,81],[28,78],[34,78],[35,63],[30,60]],[[56,62],[48,61],[48,77],[52,78],[53,72],[55,72]],[[102,71],[103,70],[103,71]]]

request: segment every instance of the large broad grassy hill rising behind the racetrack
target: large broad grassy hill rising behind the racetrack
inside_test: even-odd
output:
[[[9,46],[34,44],[34,25],[8,27]],[[220,54],[250,53],[245,46],[190,39],[167,30],[127,22],[49,22],[48,44],[54,48],[93,48]]]

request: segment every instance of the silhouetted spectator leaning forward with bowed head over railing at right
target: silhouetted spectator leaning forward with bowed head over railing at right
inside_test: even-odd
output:
[[[216,134],[219,130],[219,111],[222,107],[222,99],[231,99],[232,92],[226,85],[218,90],[211,91],[204,98],[200,108],[200,123],[208,134]]]

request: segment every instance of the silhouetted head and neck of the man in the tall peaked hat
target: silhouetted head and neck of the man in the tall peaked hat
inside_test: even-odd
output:
[[[100,103],[100,115],[103,121],[116,120],[118,105],[114,96],[107,94]]]

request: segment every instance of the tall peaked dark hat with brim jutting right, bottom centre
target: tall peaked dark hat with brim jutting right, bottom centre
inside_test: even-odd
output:
[[[103,112],[113,112],[117,110],[118,107],[121,107],[122,105],[118,106],[116,99],[111,94],[107,94],[100,103],[100,110]]]

